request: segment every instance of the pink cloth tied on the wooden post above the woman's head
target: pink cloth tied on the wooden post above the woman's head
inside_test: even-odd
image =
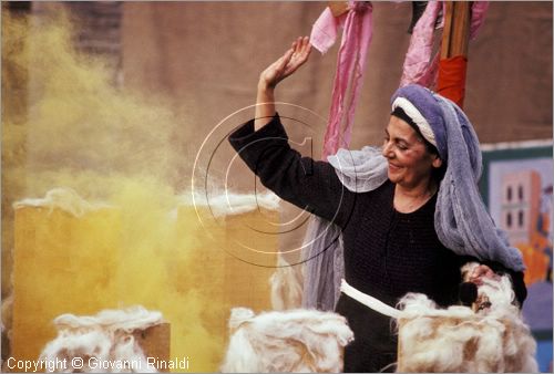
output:
[[[438,70],[448,69],[439,67],[439,52],[431,59],[435,22],[441,7],[443,9],[442,1],[429,1],[425,11],[413,28],[400,80],[401,87],[410,83],[432,87],[437,83]],[[488,10],[489,1],[473,2],[471,7],[470,40],[478,35]]]

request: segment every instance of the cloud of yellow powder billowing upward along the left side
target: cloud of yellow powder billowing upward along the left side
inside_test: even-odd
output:
[[[10,108],[2,116],[2,257],[8,259],[2,261],[2,294],[11,291],[12,204],[43,197],[52,188],[72,188],[88,201],[117,210],[119,226],[103,229],[121,230],[115,235],[119,248],[90,260],[69,279],[49,263],[37,267],[44,274],[52,272],[57,288],[35,284],[33,292],[48,303],[48,295],[57,300],[53,295],[63,292],[63,284],[86,288],[96,279],[89,276],[116,268],[115,276],[105,279],[104,301],[98,303],[160,310],[172,324],[172,356],[188,356],[191,371],[216,371],[224,336],[214,332],[225,325],[229,305],[213,298],[220,291],[217,274],[211,283],[195,260],[198,243],[207,246],[196,218],[178,219],[175,214],[178,186],[187,185],[189,177],[179,170],[192,164],[184,158],[184,145],[175,143],[186,121],[163,97],[146,100],[114,86],[101,59],[72,48],[65,14],[16,20],[4,12],[2,18],[2,104]],[[40,224],[42,235],[61,240],[62,233],[52,229],[58,216],[48,217]],[[94,240],[103,235],[90,231],[73,242],[94,258]]]

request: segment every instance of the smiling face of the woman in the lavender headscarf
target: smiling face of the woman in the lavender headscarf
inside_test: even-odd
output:
[[[389,179],[404,188],[428,184],[441,159],[429,153],[420,135],[399,117],[390,117],[384,133],[382,155],[389,162]]]

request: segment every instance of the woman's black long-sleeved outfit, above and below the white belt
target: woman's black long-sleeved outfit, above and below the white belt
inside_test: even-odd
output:
[[[455,254],[439,241],[437,195],[418,210],[402,214],[393,208],[390,181],[369,193],[349,191],[330,164],[301,157],[290,148],[278,115],[257,132],[254,121],[244,124],[229,142],[264,186],[342,229],[349,284],[392,307],[407,292],[424,293],[442,307],[456,302],[460,268],[476,260]],[[522,303],[523,274],[511,271],[511,276]],[[396,360],[396,340],[388,318],[359,305],[343,295],[337,305],[355,332],[355,343],[345,353],[345,371],[378,371]]]

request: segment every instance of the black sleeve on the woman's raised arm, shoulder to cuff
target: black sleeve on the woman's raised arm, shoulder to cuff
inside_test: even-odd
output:
[[[229,143],[264,186],[297,207],[345,227],[356,201],[325,162],[302,157],[290,148],[276,114],[260,129],[254,120],[229,135]]]

